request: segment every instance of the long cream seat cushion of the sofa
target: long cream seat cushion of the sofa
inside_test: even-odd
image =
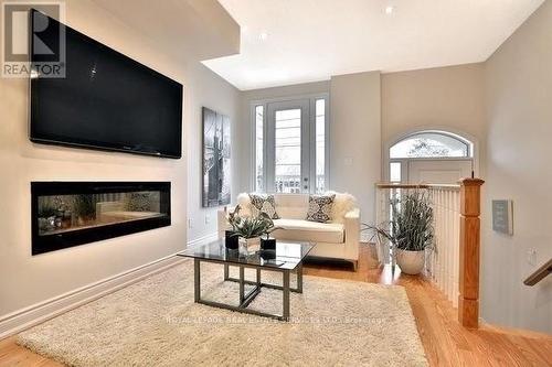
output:
[[[329,244],[342,244],[344,241],[344,228],[339,223],[275,219],[274,225],[284,228],[272,234],[277,239]]]

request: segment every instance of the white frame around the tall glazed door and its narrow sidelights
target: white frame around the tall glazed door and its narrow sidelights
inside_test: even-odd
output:
[[[289,96],[283,98],[268,98],[268,99],[257,99],[250,101],[250,126],[251,126],[251,177],[250,177],[250,191],[256,190],[256,152],[257,152],[257,139],[256,139],[256,116],[255,108],[257,106],[263,106],[263,186],[265,187],[265,192],[272,193],[272,187],[274,184],[268,185],[268,176],[267,176],[267,161],[268,161],[268,149],[266,149],[266,144],[268,142],[268,105],[277,104],[277,102],[293,102],[300,99],[309,100],[309,139],[310,139],[310,162],[312,163],[309,170],[309,192],[316,192],[316,101],[318,99],[325,100],[325,186],[326,191],[330,190],[330,94],[329,93],[320,93],[320,94],[310,94],[310,95],[297,95]]]

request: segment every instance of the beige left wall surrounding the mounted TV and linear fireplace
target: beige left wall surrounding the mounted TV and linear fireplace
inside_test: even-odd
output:
[[[28,138],[28,80],[0,78],[0,319],[182,250],[187,244],[187,196],[193,195],[187,194],[187,160],[200,160],[191,156],[198,154],[197,141],[191,142],[200,129],[198,110],[206,102],[231,116],[237,109],[232,106],[235,88],[203,66],[167,57],[155,42],[94,2],[66,1],[66,10],[68,25],[184,85],[184,158],[33,144]],[[215,93],[210,95],[211,90]],[[32,257],[30,182],[54,180],[171,181],[172,225]],[[197,190],[197,185],[191,187]]]

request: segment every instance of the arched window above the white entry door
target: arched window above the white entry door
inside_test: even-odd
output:
[[[406,158],[470,158],[471,142],[442,131],[422,131],[411,134],[392,145],[390,159]]]

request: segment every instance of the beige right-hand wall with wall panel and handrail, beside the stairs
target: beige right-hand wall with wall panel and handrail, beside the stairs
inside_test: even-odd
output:
[[[487,175],[481,314],[490,323],[552,333],[552,277],[523,279],[552,257],[552,2],[486,63]],[[492,198],[513,199],[513,236],[491,230]],[[537,261],[528,262],[528,250]]]

